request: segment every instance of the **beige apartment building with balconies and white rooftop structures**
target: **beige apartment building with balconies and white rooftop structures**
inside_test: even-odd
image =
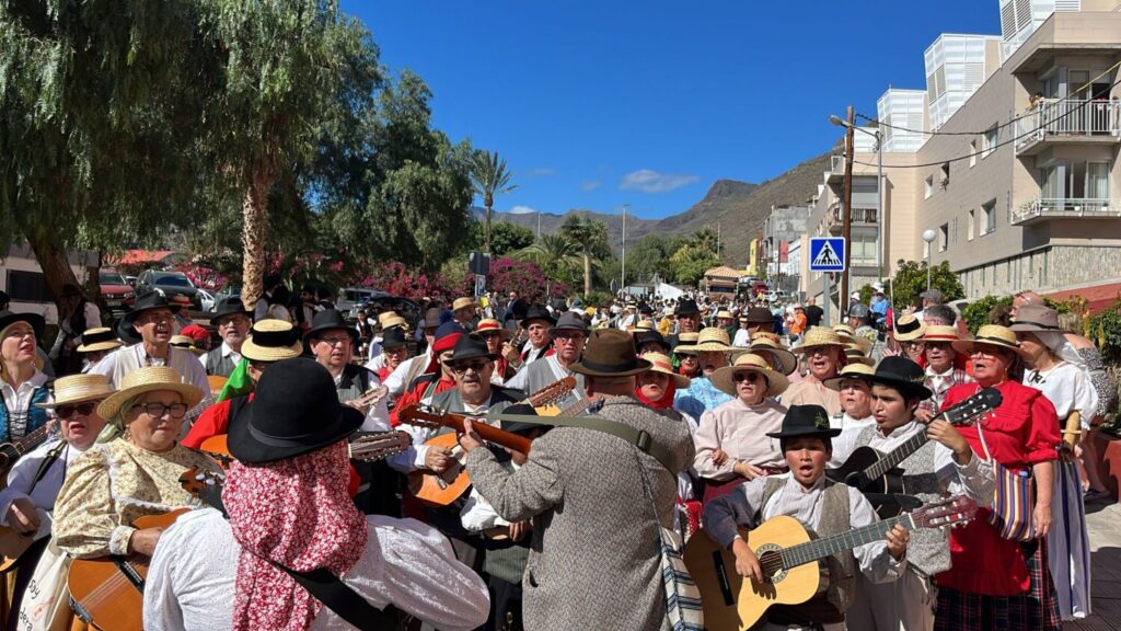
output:
[[[971,299],[1121,282],[1121,2],[1053,1],[1049,13],[1036,4],[1048,2],[1032,0],[1026,12],[1000,0],[1002,38],[935,40],[921,116],[918,91],[880,98],[877,118],[892,126],[880,128],[882,191],[878,130],[855,131],[853,290],[881,268],[890,277],[899,259],[927,255],[934,265],[948,260]],[[836,156],[813,200],[803,252],[809,237],[841,234],[843,172]],[[928,229],[936,235],[929,252]],[[806,295],[821,301],[824,283],[808,272],[808,256],[802,277]]]

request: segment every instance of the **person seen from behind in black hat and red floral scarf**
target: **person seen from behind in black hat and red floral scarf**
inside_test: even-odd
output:
[[[203,509],[163,532],[145,587],[146,628],[351,628],[278,566],[325,568],[373,607],[393,605],[438,629],[467,631],[487,620],[485,584],[435,529],[355,510],[346,439],[363,419],[334,388],[306,358],[262,375],[250,413],[230,426],[239,465],[222,493],[229,520]]]

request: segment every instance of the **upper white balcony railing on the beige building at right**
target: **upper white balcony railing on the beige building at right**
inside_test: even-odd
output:
[[[1016,121],[1016,150],[1062,137],[1121,137],[1121,101],[1045,99]]]

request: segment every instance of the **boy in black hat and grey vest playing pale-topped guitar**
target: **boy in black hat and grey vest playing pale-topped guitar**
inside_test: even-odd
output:
[[[762,582],[763,571],[756,554],[740,537],[739,529],[756,528],[776,516],[789,515],[804,527],[828,537],[879,521],[872,505],[859,490],[825,477],[825,464],[833,451],[828,413],[821,405],[791,405],[782,429],[767,436],[778,438],[790,473],[745,482],[731,494],[708,502],[704,525],[708,536],[735,555],[735,571]],[[886,541],[877,541],[830,557],[825,566],[825,592],[800,605],[777,605],[767,612],[762,629],[845,629],[859,569],[872,582],[895,580],[904,570],[909,534],[897,524]]]

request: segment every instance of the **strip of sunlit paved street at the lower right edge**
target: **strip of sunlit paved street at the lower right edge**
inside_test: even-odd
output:
[[[1086,512],[1093,549],[1094,613],[1066,629],[1121,631],[1121,505],[1112,500],[1096,501],[1086,505]]]

